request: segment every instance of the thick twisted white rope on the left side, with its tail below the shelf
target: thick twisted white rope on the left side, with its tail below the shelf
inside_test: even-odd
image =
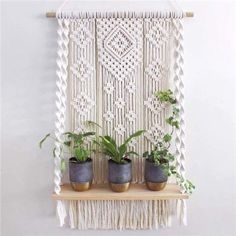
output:
[[[62,134],[65,132],[66,122],[66,88],[67,88],[67,67],[68,67],[68,43],[69,43],[69,21],[58,19],[58,51],[57,51],[57,91],[56,91],[56,122],[55,122],[55,171],[54,171],[54,191],[60,194],[61,191],[61,150]],[[57,201],[57,215],[60,220],[60,226],[64,224],[66,217],[65,205],[62,201]]]

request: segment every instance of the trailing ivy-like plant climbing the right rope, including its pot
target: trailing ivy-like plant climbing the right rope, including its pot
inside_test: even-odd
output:
[[[156,140],[156,144],[150,153],[145,152],[143,154],[146,157],[146,185],[148,189],[153,191],[162,190],[166,186],[168,177],[175,175],[178,183],[184,188],[184,191],[192,193],[195,186],[189,180],[184,180],[176,171],[176,158],[171,152],[172,136],[174,131],[179,129],[177,100],[171,90],[160,91],[155,95],[163,105],[171,107],[171,116],[166,119],[166,123],[171,127],[171,130]]]

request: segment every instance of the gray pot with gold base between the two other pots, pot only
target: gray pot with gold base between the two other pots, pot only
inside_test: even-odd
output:
[[[125,160],[124,164],[108,161],[108,181],[115,192],[127,191],[132,180],[132,162],[130,159]]]

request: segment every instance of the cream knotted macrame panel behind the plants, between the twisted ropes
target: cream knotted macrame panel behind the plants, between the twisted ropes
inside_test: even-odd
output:
[[[154,93],[170,81],[172,27],[171,19],[162,18],[71,19],[69,128],[83,131],[84,122],[92,120],[118,144],[145,129],[145,137],[129,148],[140,154],[150,150],[165,129],[167,111]],[[131,158],[133,182],[141,183],[144,159]],[[93,159],[95,182],[106,182],[107,160]]]

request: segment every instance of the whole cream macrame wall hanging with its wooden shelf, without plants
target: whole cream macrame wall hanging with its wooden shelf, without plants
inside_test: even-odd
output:
[[[84,121],[92,120],[102,125],[101,135],[119,144],[147,130],[130,148],[150,150],[168,114],[153,94],[171,87],[180,108],[176,166],[185,178],[183,17],[182,12],[58,13],[57,139],[65,130],[84,130]],[[157,229],[170,226],[173,216],[186,224],[187,195],[174,180],[164,194],[108,193],[107,160],[99,155],[93,156],[94,185],[101,191],[70,191],[62,181],[60,148],[56,142],[53,198],[61,226]],[[133,158],[134,184],[143,184],[143,172],[143,158]]]

